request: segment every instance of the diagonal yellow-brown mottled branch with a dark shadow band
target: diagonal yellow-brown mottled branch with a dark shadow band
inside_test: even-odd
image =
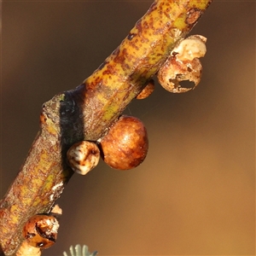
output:
[[[83,84],[45,102],[40,131],[0,202],[0,242],[14,254],[32,215],[49,212],[72,177],[66,153],[73,143],[101,138],[212,0],[155,0],[146,15]]]

